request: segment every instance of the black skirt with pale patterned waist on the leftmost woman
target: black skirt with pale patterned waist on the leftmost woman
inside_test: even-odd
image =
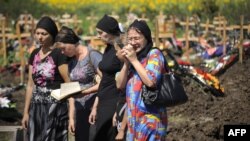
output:
[[[29,141],[67,141],[68,104],[52,100],[50,91],[36,89],[29,108]]]

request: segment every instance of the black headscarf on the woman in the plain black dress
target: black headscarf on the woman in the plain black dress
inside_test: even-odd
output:
[[[103,30],[104,32],[112,35],[119,36],[121,33],[121,30],[119,28],[119,24],[117,20],[113,17],[110,17],[108,15],[104,15],[102,19],[97,23],[97,28]]]

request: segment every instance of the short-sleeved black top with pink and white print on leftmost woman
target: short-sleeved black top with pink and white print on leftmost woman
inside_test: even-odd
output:
[[[41,59],[39,50],[35,49],[30,56],[29,65],[32,65],[32,78],[36,86],[49,89],[58,89],[64,82],[58,67],[67,64],[67,57],[61,53],[61,50],[55,48],[45,58]]]

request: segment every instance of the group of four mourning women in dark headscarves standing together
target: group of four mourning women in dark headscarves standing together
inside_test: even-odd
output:
[[[164,55],[153,48],[149,26],[135,20],[124,33],[116,19],[104,15],[96,32],[106,43],[103,54],[71,28],[58,31],[48,16],[37,23],[39,47],[28,61],[22,119],[27,139],[67,141],[71,133],[76,141],[165,140],[166,108],[145,105],[140,96],[142,85],[158,87],[168,71]],[[76,81],[87,89],[60,101],[50,95],[62,83]]]

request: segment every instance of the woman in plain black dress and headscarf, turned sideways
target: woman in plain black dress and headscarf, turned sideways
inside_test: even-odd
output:
[[[97,36],[106,43],[103,59],[99,63],[102,79],[97,92],[94,106],[89,116],[89,122],[96,126],[96,141],[114,141],[116,128],[112,126],[112,118],[119,99],[119,90],[116,87],[116,73],[122,67],[121,61],[116,56],[114,47],[120,38],[118,22],[110,16],[104,15],[96,25]]]

